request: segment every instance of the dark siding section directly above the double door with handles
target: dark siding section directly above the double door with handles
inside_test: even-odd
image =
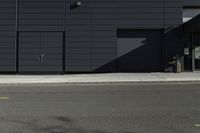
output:
[[[19,31],[64,31],[65,0],[19,0]]]

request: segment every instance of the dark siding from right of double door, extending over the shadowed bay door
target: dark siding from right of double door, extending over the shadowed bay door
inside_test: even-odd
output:
[[[67,1],[67,71],[114,71],[117,28],[161,29],[182,23],[182,0],[80,1],[76,9],[70,9],[73,0]]]

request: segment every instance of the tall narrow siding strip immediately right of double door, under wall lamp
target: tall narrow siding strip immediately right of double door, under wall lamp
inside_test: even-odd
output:
[[[70,9],[74,3],[67,1],[66,71],[91,71],[91,6],[81,0],[82,6]]]

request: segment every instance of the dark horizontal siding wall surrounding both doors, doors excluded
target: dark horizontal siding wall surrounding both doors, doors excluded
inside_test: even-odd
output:
[[[182,0],[79,1],[70,8],[76,1],[0,0],[0,71],[17,71],[16,32],[62,32],[66,72],[110,72],[117,71],[117,29],[167,29],[182,21]],[[177,38],[165,39],[179,48]]]

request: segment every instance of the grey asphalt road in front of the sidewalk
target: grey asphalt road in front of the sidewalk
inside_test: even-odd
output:
[[[200,83],[4,85],[0,133],[200,133]]]

